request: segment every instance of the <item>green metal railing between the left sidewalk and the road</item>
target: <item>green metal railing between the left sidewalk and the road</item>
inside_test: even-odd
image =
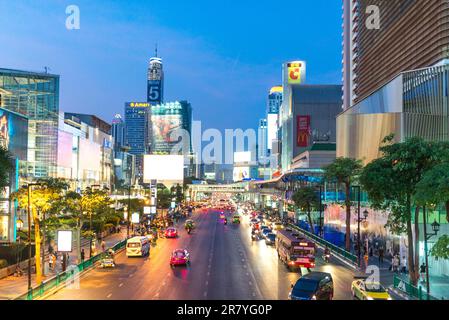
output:
[[[118,250],[126,246],[126,241],[127,240],[125,239],[123,241],[118,242],[116,245],[111,247],[111,249],[117,252]],[[66,285],[69,285],[76,275],[95,265],[95,263],[100,261],[105,256],[105,254],[106,252],[101,252],[93,256],[92,258],[69,268],[69,270],[56,274],[54,277],[46,281],[43,281],[40,285],[31,288],[31,290],[29,290],[27,293],[15,298],[14,300],[34,300],[36,298],[43,297],[50,290],[59,287],[62,283],[66,283]]]

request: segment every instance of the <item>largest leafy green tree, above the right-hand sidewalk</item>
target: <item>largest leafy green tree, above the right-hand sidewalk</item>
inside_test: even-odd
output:
[[[426,172],[444,159],[447,144],[426,142],[418,137],[401,143],[392,141],[392,135],[384,139],[380,147],[382,156],[363,169],[360,182],[373,208],[390,211],[387,227],[393,233],[407,234],[409,276],[416,285],[419,279],[419,213],[423,204],[416,199],[417,188]]]

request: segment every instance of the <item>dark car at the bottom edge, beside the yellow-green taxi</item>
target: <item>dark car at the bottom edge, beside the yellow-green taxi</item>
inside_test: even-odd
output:
[[[332,300],[334,283],[326,272],[311,272],[292,285],[290,300]]]

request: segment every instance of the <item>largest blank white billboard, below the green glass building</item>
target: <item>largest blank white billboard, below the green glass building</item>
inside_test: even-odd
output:
[[[184,156],[145,155],[143,161],[143,180],[149,183],[158,181],[183,181]]]

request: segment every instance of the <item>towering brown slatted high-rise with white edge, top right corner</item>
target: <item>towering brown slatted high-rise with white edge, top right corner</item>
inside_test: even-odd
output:
[[[447,59],[448,12],[446,0],[343,0],[344,108],[401,72]]]

